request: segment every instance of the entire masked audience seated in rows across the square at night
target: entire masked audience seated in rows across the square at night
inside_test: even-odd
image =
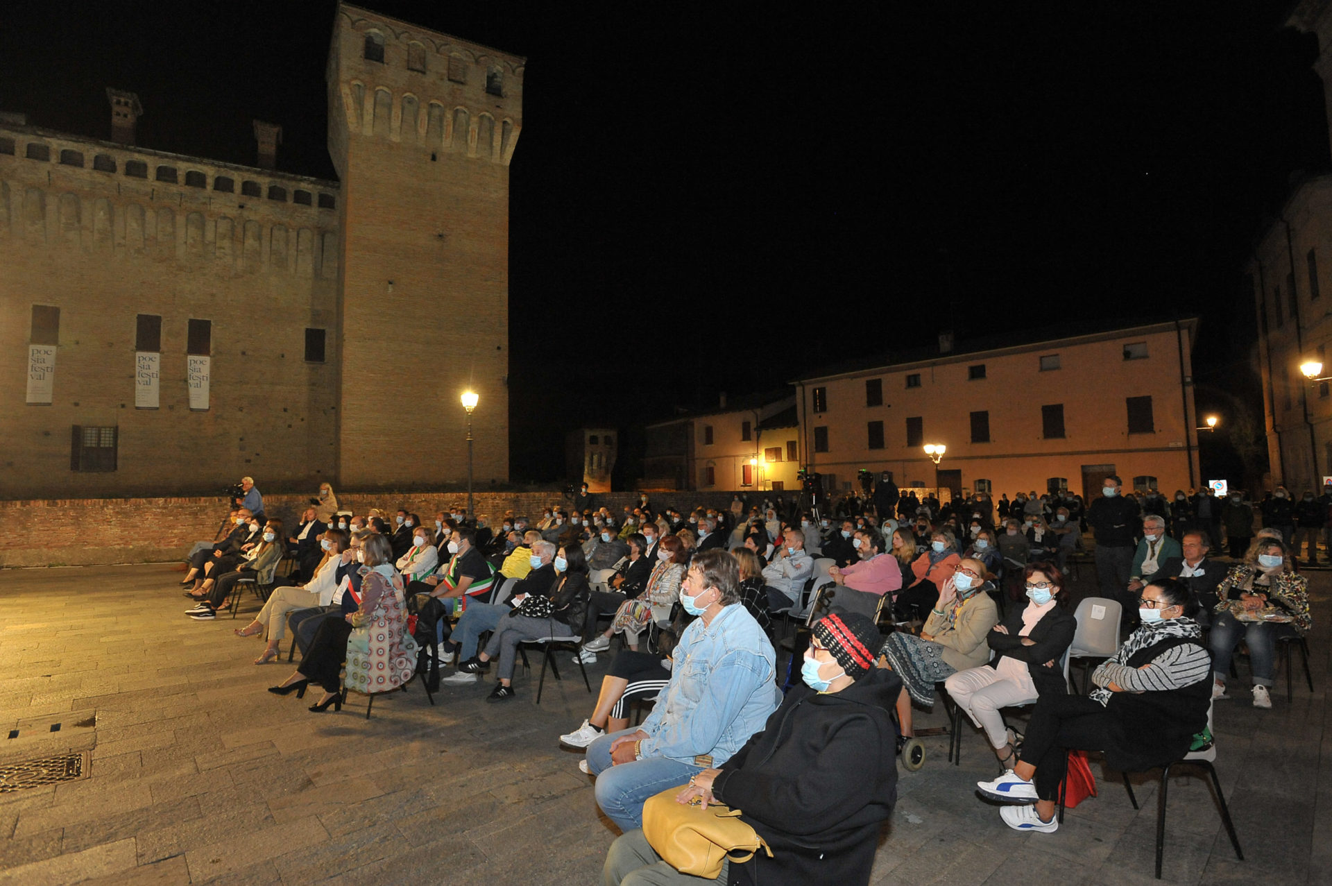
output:
[[[559,737],[583,753],[579,769],[622,831],[606,859],[614,883],[685,877],[641,830],[645,802],[677,786],[681,802],[743,809],[774,850],[746,863],[750,877],[867,882],[912,709],[940,690],[1002,769],[980,793],[1008,803],[1008,826],[1052,831],[1066,750],[1102,750],[1124,767],[1177,758],[1205,730],[1207,705],[1228,697],[1239,644],[1253,703],[1268,707],[1276,644],[1311,625],[1289,542],[1315,528],[1312,508],[1264,510],[1276,524],[1239,550],[1236,540],[1255,537],[1228,522],[1243,498],[1204,490],[1171,502],[1124,492],[1116,477],[1086,505],[1064,492],[939,502],[902,496],[883,476],[872,496],[846,496],[829,513],[782,496],[658,509],[641,494],[617,510],[583,489],[493,526],[457,505],[433,521],[408,509],[354,514],[324,484],[290,534],[264,516],[253,481],[242,486],[225,537],[189,552],[188,614],[214,618],[250,581],[261,588],[262,608],[234,633],[266,640],[257,665],[293,634],[301,662],[270,691],[302,697],[316,683],[312,711],[449,665],[434,671],[441,685],[494,670],[486,699],[505,702],[525,641],[569,642],[582,664],[618,644],[591,713]],[[1217,526],[1236,562],[1213,560]],[[1082,697],[1060,662],[1076,630],[1068,561],[1082,558],[1086,532],[1100,593],[1123,604],[1128,634]],[[280,577],[284,558],[293,568]],[[806,617],[815,598],[783,674],[778,620]],[[650,707],[638,727],[634,705]],[[1000,710],[1024,705],[1020,734]],[[854,771],[839,762],[848,758]]]

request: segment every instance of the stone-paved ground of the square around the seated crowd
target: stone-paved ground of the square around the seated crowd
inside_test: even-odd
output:
[[[1084,569],[1084,574],[1090,573]],[[0,883],[585,883],[614,838],[578,757],[557,735],[590,713],[567,654],[563,682],[535,675],[488,705],[484,686],[413,685],[341,713],[264,691],[288,665],[252,664],[245,624],[197,624],[164,565],[0,572],[0,766],[64,751],[84,777],[0,793]],[[1088,584],[1084,578],[1083,585]],[[1180,883],[1332,882],[1328,592],[1315,573],[1315,693],[1277,675],[1273,709],[1219,702],[1219,770],[1247,861],[1231,851],[1207,782],[1169,790],[1164,877]],[[591,666],[593,686],[606,657]],[[1240,665],[1241,678],[1247,677]],[[1243,679],[1240,681],[1243,682]],[[919,717],[940,725],[942,706]],[[51,731],[59,723],[59,731]],[[15,735],[7,738],[5,735]],[[975,795],[995,773],[967,727],[900,773],[876,883],[1152,883],[1155,782],[1142,811],[1094,771],[1100,795],[1056,834],[1019,835]],[[1324,757],[1328,754],[1328,757]]]

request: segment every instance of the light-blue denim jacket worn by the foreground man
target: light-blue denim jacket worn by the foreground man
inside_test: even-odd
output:
[[[670,683],[642,725],[643,757],[721,766],[777,710],[777,656],[745,606],[722,608],[711,625],[695,620],[675,646]],[[698,763],[703,765],[703,763]]]

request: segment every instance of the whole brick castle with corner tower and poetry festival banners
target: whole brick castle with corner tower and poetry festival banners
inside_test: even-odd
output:
[[[254,167],[136,147],[116,89],[108,141],[0,115],[0,498],[460,481],[466,389],[506,480],[522,72],[338,5],[340,183],[276,171],[262,121]]]

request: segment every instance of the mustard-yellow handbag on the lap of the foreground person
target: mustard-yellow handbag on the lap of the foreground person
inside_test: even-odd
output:
[[[761,847],[773,857],[767,842],[739,819],[741,810],[722,803],[677,803],[681,785],[649,797],[643,803],[643,837],[667,865],[682,874],[717,879],[722,862],[754,858]],[[738,853],[738,854],[737,854]]]

